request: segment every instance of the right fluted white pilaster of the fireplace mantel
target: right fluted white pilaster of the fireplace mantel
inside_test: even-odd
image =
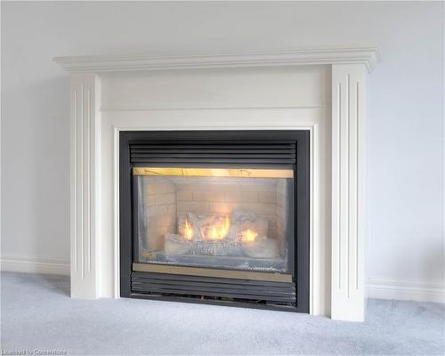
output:
[[[364,320],[368,239],[368,69],[332,66],[332,303],[335,320]]]

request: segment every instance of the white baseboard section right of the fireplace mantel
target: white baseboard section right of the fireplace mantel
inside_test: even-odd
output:
[[[370,279],[369,298],[445,303],[445,286],[433,283]]]

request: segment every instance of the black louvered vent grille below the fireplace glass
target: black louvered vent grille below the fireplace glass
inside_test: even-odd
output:
[[[295,303],[295,283],[220,279],[165,273],[132,272],[132,292],[150,295],[211,297],[255,303]]]

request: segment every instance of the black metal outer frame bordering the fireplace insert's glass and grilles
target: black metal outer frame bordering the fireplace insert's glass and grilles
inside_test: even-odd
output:
[[[294,256],[294,276],[296,285],[296,305],[292,307],[271,306],[268,304],[250,304],[239,302],[216,301],[211,299],[193,299],[182,296],[157,296],[134,293],[131,289],[132,263],[134,262],[134,219],[135,202],[132,194],[133,179],[132,168],[138,166],[130,160],[130,144],[133,142],[150,141],[186,141],[197,140],[203,142],[231,142],[232,140],[264,141],[264,142],[295,142],[296,159],[295,165],[295,187],[294,187],[294,214],[295,214],[295,241]],[[120,295],[123,297],[165,299],[186,301],[192,303],[218,303],[224,305],[246,306],[273,310],[287,310],[294,312],[309,312],[309,172],[310,172],[310,134],[307,130],[295,131],[162,131],[162,132],[133,132],[126,131],[119,134],[119,220],[120,220]],[[236,166],[212,163],[211,159],[206,159],[206,166]],[[140,166],[140,165],[139,165]],[[158,166],[163,166],[159,164]],[[171,164],[168,164],[171,166]],[[181,166],[184,166],[181,164]],[[195,163],[194,165],[197,166]],[[203,166],[200,163],[198,166]],[[242,164],[239,166],[289,166],[280,163],[252,165]]]

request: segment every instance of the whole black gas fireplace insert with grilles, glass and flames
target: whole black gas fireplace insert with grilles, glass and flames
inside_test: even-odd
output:
[[[309,141],[121,132],[120,295],[309,312]]]

